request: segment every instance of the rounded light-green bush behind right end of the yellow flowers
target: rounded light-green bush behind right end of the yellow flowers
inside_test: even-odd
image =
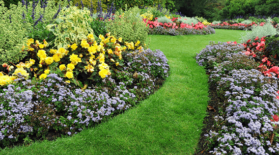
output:
[[[144,44],[148,27],[138,15],[138,7],[129,9],[123,13],[121,11],[115,13],[114,21],[107,22],[108,31],[115,37],[122,37],[124,42],[140,41]]]

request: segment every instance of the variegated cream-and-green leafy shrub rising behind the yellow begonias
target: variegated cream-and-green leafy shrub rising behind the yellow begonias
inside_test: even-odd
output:
[[[63,16],[65,14],[65,16]],[[86,8],[81,10],[76,6],[64,7],[56,20],[56,24],[49,24],[47,29],[56,35],[55,47],[66,48],[68,44],[78,43],[86,39],[88,33],[93,34],[90,27],[92,18],[90,11]],[[54,28],[53,28],[54,27]]]

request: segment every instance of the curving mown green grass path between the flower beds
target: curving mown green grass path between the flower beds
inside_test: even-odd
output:
[[[2,155],[191,155],[206,116],[207,75],[195,63],[195,53],[210,40],[238,41],[240,30],[217,29],[216,34],[152,35],[150,48],[165,53],[170,76],[155,94],[107,122],[71,137],[35,142],[0,151]]]

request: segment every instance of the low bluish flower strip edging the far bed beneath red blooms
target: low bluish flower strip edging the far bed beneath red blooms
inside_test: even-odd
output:
[[[195,28],[165,28],[163,26],[156,26],[154,28],[149,28],[149,34],[163,34],[163,35],[192,35],[192,34],[214,34],[215,30],[211,27],[203,27],[202,29]]]

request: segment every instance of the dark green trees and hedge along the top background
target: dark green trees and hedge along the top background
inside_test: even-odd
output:
[[[21,0],[3,0],[5,6]],[[33,0],[28,0],[33,1]],[[37,0],[36,0],[37,1]],[[84,5],[91,0],[83,0]],[[96,3],[98,0],[92,0]],[[103,4],[114,1],[116,9],[133,6],[160,4],[171,11],[178,11],[187,17],[204,17],[209,22],[235,17],[279,16],[279,0],[101,0]],[[73,0],[73,3],[80,0]],[[85,5],[86,6],[86,5]]]

